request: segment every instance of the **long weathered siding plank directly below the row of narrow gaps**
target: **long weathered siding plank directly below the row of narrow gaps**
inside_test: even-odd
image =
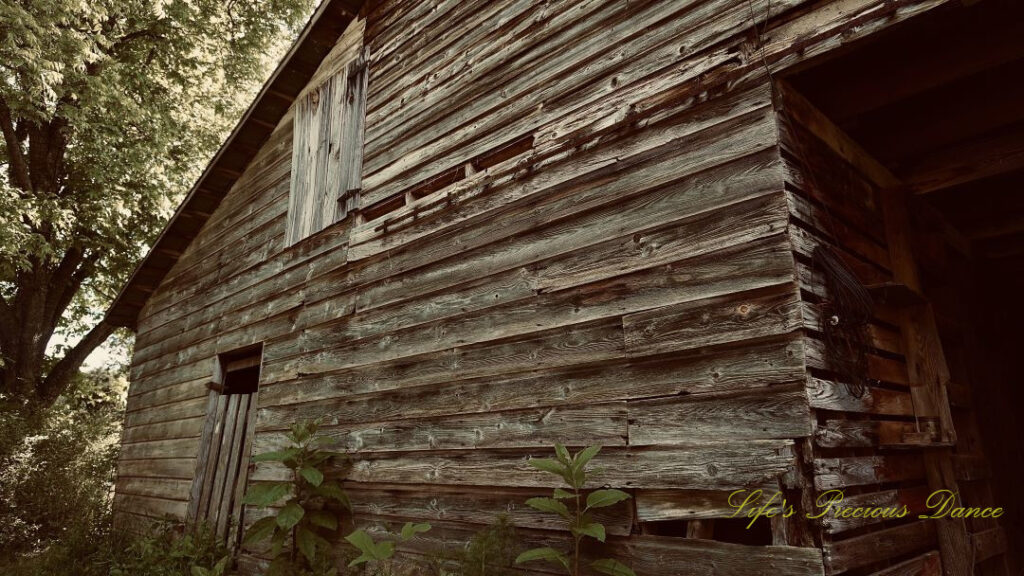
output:
[[[770,117],[766,115],[765,108],[769,101],[764,93],[743,92],[698,108],[656,130],[633,131],[603,147],[572,148],[562,154],[536,150],[513,157],[421,199],[416,207],[417,212],[422,212],[429,204],[440,201],[445,208],[458,203],[461,208],[458,211],[445,209],[430,214],[430,218],[400,227],[385,218],[384,223],[390,225],[382,227],[381,222],[377,222],[357,229],[352,238],[350,256],[353,260],[370,257],[386,249],[424,240],[444,225],[461,223],[466,227],[479,222],[489,214],[507,213],[524,203],[535,204],[530,206],[534,209],[564,204],[564,209],[582,212],[594,207],[597,202],[622,202],[638,193],[672,182],[696,183],[700,180],[694,178],[695,174],[764,151],[774,141],[769,129]],[[554,156],[547,158],[549,154]],[[542,167],[543,170],[539,169]],[[741,179],[752,175],[743,171],[730,172],[731,177]],[[717,179],[711,174],[708,176],[711,181]],[[707,183],[701,186],[708,187]],[[593,190],[590,190],[592,187]],[[575,197],[562,198],[561,202],[550,206],[538,202],[566,190],[577,191]],[[685,189],[679,192],[685,192]],[[712,203],[729,192],[723,189],[707,191],[715,196],[691,192],[688,202],[703,199]],[[568,200],[572,202],[567,203]],[[675,207],[681,210],[685,205],[680,202]],[[695,211],[683,211],[677,217],[692,213]],[[419,219],[421,214],[417,216]],[[554,219],[553,216],[548,217]],[[528,223],[532,229],[538,220]],[[503,235],[515,232],[521,232],[521,229],[490,231],[492,234]],[[431,254],[441,247],[418,248]],[[426,254],[411,256],[423,258]]]

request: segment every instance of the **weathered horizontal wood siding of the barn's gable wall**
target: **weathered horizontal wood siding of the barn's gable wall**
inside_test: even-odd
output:
[[[822,573],[820,549],[784,540],[637,533],[792,487],[812,409],[907,409],[900,389],[808,379],[801,262],[820,239],[791,223],[764,65],[939,2],[839,3],[379,3],[365,213],[289,245],[286,115],[139,317],[119,513],[184,513],[214,359],[262,342],[253,450],[323,418],[354,454],[360,524],[428,520],[457,541],[509,510],[550,542],[521,502],[553,477],[526,460],[601,444],[595,485],[635,495],[607,524],[638,573]]]

